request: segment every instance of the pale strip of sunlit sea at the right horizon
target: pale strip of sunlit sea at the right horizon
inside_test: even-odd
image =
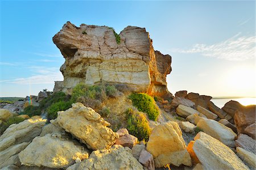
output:
[[[217,107],[222,108],[224,105],[230,101],[238,101],[240,104],[247,106],[251,104],[256,104],[256,97],[244,97],[244,98],[225,98],[225,99],[212,99],[212,101]]]

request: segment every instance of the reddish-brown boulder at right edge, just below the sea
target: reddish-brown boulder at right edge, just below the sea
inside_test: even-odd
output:
[[[238,133],[245,134],[245,129],[247,128],[247,126],[255,123],[255,113],[255,105],[249,105],[236,111],[236,113],[234,114],[234,123],[237,127]]]

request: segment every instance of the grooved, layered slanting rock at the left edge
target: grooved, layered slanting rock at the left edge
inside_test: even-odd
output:
[[[0,168],[10,164],[19,165],[18,154],[38,136],[46,120],[25,120],[10,125],[0,137]]]

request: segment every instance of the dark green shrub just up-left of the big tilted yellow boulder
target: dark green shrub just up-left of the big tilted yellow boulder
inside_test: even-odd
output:
[[[55,119],[57,118],[58,111],[65,111],[71,107],[71,101],[58,101],[57,103],[53,103],[47,108],[47,117],[49,120]]]

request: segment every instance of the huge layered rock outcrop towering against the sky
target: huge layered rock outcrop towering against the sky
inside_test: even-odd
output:
[[[171,56],[155,51],[145,28],[126,27],[117,44],[113,29],[106,26],[64,24],[53,42],[65,63],[60,71],[64,82],[59,89],[69,92],[79,82],[128,84],[137,92],[168,93],[166,75],[171,72]],[[56,90],[55,90],[56,91]]]

